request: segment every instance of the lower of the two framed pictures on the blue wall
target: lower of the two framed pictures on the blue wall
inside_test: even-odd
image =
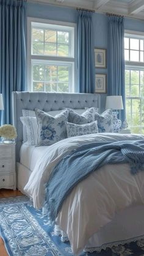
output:
[[[95,92],[106,93],[107,92],[107,76],[106,74],[95,75]]]

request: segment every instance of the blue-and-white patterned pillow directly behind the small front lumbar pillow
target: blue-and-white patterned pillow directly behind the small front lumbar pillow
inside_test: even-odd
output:
[[[76,123],[76,125],[83,125],[84,123],[91,123],[95,121],[94,108],[89,108],[84,113],[77,114],[72,109],[69,109],[68,122]]]

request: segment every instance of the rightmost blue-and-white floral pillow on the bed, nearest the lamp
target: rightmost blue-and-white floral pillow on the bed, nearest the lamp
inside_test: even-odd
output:
[[[107,109],[102,114],[95,112],[95,120],[98,121],[99,133],[113,133],[113,115],[111,109]]]

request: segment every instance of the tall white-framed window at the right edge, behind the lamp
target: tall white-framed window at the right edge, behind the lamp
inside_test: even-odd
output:
[[[144,35],[124,36],[126,119],[132,133],[144,133]]]

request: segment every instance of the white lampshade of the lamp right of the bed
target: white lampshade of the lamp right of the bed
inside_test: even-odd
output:
[[[106,109],[123,109],[122,96],[107,96]]]

